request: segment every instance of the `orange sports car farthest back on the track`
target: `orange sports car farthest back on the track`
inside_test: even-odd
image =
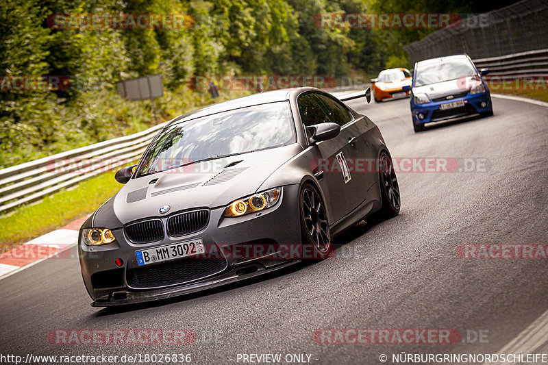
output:
[[[388,68],[379,73],[379,77],[371,79],[373,84],[373,99],[382,101],[398,97],[408,97],[411,93],[412,77],[407,68]]]

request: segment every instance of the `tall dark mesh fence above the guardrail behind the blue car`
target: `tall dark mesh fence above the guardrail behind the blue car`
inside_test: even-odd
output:
[[[456,53],[468,53],[473,60],[482,60],[544,50],[548,48],[547,19],[548,1],[522,0],[499,10],[475,14],[463,22],[477,26],[457,24],[440,29],[403,49],[408,52],[411,64]],[[532,60],[531,69],[545,61],[546,58]]]

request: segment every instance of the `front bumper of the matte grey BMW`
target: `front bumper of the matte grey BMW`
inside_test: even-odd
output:
[[[300,257],[295,255],[295,251],[288,251],[287,247],[301,244],[298,201],[299,185],[284,186],[282,196],[274,207],[237,218],[224,218],[225,207],[218,207],[210,210],[210,220],[205,229],[177,238],[165,235],[163,240],[149,244],[129,242],[122,228],[112,230],[116,241],[105,246],[89,247],[80,237],[79,261],[84,284],[94,299],[92,305],[123,305],[189,294],[295,264]],[[165,231],[169,216],[161,218]],[[216,252],[218,255],[183,257],[143,266],[137,264],[136,251],[197,238],[201,238],[206,252]],[[249,247],[258,247],[259,250],[250,251]],[[116,264],[116,259],[123,261],[122,266]],[[204,272],[205,275],[195,275],[192,279],[176,283],[171,281],[167,285],[136,285],[132,279],[134,273],[143,268],[153,268],[154,273],[160,274],[158,276],[171,275],[165,272],[168,270],[167,263],[170,263],[169,270],[176,267],[177,272],[199,270],[198,264],[208,268],[208,271]]]

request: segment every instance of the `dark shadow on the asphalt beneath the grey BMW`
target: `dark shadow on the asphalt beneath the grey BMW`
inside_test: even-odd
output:
[[[332,242],[334,250],[332,251],[332,255],[336,255],[336,250],[340,249],[341,247],[344,247],[345,244],[348,244],[349,242],[352,242],[353,240],[356,240],[356,238],[359,238],[360,236],[366,234],[371,227],[377,225],[378,223],[382,222],[384,220],[377,220],[377,219],[368,219],[367,221],[361,221],[360,223],[353,225],[349,229],[346,229],[343,231],[343,233],[336,236]],[[329,260],[329,257],[327,257],[326,260]],[[271,273],[264,273],[262,275],[258,275],[256,277],[250,277],[248,279],[242,279],[241,281],[237,281],[236,283],[232,284],[226,284],[223,286],[219,286],[216,288],[210,288],[206,290],[202,290],[200,292],[190,293],[190,294],[183,294],[179,295],[177,297],[172,298],[166,298],[166,299],[158,299],[155,301],[148,301],[144,303],[135,303],[135,304],[127,304],[127,305],[120,305],[118,307],[104,307],[101,308],[101,310],[95,312],[92,314],[93,317],[100,318],[103,316],[112,316],[116,314],[123,314],[127,312],[136,312],[139,310],[146,310],[152,307],[162,307],[164,305],[171,305],[174,303],[184,303],[186,301],[191,301],[192,299],[199,299],[202,297],[208,297],[213,294],[219,294],[222,292],[228,292],[230,290],[234,290],[237,288],[242,288],[245,286],[249,286],[252,284],[258,284],[264,281],[269,281],[271,279],[277,279],[280,277],[284,277],[286,275],[290,275],[292,273],[295,273],[302,268],[305,268],[307,266],[314,265],[316,263],[319,263],[321,261],[317,260],[303,260],[295,265],[288,266],[286,268],[282,268],[279,270],[272,271]]]

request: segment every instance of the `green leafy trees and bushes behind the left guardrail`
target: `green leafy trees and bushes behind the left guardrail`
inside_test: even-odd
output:
[[[116,81],[161,74],[162,118],[212,103],[190,90],[195,75],[373,75],[428,29],[319,27],[325,12],[476,10],[434,0],[3,0],[0,77],[65,75],[66,90],[0,89],[0,168],[153,123],[149,101],[125,101]],[[479,6],[479,5],[477,5]],[[187,14],[191,26],[51,27],[54,14]],[[388,57],[392,56],[392,57]],[[222,92],[221,99],[244,92]]]

